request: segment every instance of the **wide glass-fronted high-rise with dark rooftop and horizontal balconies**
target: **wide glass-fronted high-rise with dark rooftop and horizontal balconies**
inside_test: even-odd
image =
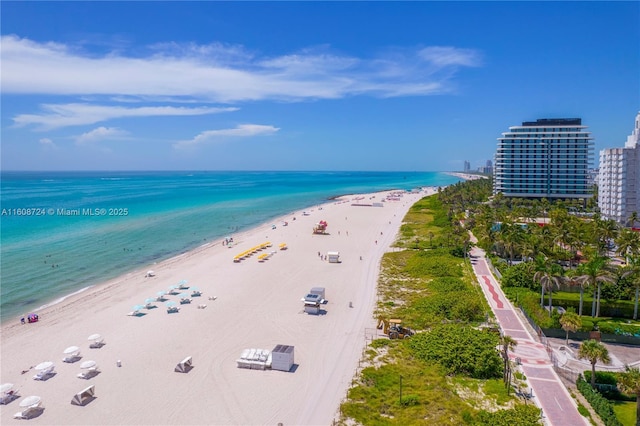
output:
[[[498,138],[493,192],[506,197],[584,199],[592,195],[593,138],[580,118],[542,118]]]

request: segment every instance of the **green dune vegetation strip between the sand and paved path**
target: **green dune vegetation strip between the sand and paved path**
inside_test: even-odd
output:
[[[447,188],[405,217],[396,243],[404,250],[381,262],[375,316],[400,318],[417,333],[371,341],[338,424],[538,424],[539,410],[520,408],[505,388],[499,336],[479,327],[491,314],[464,261],[470,245],[459,225],[461,212],[490,194],[487,182],[474,185],[483,191],[447,200]]]

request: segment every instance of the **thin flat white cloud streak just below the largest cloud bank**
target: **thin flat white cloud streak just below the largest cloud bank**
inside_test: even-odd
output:
[[[150,116],[190,116],[217,114],[236,111],[238,108],[196,107],[184,108],[173,106],[148,106],[130,108],[111,105],[91,104],[45,104],[44,112],[39,114],[19,114],[13,121],[16,126],[35,125],[39,130],[50,130],[67,126],[95,124],[114,118],[150,117]]]

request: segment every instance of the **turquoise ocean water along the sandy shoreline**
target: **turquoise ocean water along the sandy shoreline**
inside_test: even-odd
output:
[[[0,320],[345,194],[436,172],[3,172]]]

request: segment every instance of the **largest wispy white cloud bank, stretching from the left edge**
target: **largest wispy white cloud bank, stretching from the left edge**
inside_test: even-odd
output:
[[[201,102],[424,96],[450,90],[479,52],[456,47],[395,50],[375,58],[326,46],[260,57],[242,46],[150,46],[146,56],[87,54],[60,43],[2,37],[2,89],[13,94],[182,97]]]

